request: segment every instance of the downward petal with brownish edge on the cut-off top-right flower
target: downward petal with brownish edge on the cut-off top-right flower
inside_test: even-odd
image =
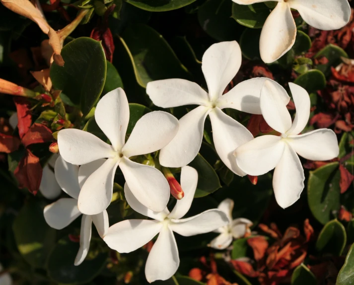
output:
[[[281,58],[295,43],[296,25],[290,7],[279,2],[263,25],[259,51],[265,63]]]

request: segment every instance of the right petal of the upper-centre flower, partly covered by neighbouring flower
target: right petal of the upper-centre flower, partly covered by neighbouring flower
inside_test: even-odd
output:
[[[220,109],[232,108],[251,114],[262,114],[259,97],[261,96],[261,89],[266,80],[270,80],[274,83],[279,94],[283,95],[284,104],[287,105],[290,97],[279,83],[266,77],[257,77],[238,83],[226,94],[219,97],[217,107]]]

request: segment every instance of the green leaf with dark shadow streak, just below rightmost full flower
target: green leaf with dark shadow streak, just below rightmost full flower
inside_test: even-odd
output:
[[[314,217],[322,224],[329,222],[333,211],[340,208],[340,172],[338,162],[310,171],[307,184],[308,206]]]

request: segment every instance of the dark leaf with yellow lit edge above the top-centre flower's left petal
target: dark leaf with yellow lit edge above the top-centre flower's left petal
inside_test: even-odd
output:
[[[190,79],[190,74],[169,44],[154,29],[134,24],[124,31],[122,38],[129,49],[136,79],[142,87],[154,80]]]

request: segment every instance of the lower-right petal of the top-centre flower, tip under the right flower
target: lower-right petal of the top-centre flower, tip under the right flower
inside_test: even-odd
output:
[[[220,159],[233,173],[246,175],[238,167],[233,152],[238,146],[251,141],[252,134],[217,107],[209,113],[209,117],[212,121],[212,139]]]

